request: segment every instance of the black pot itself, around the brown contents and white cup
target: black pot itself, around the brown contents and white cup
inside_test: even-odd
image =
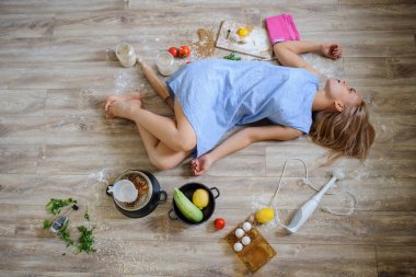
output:
[[[108,192],[108,187],[106,188],[106,194],[108,196],[112,196],[113,197],[113,201],[114,201],[114,205],[116,206],[116,208],[125,216],[127,217],[130,217],[130,218],[142,218],[142,217],[146,217],[148,216],[150,212],[152,212],[159,204],[161,203],[165,203],[166,199],[167,199],[167,194],[166,192],[164,191],[161,191],[160,189],[160,185],[159,185],[159,182],[158,180],[149,172],[147,171],[126,171],[125,173],[123,173],[116,181],[119,181],[119,180],[123,180],[123,178],[126,178],[126,176],[128,174],[134,174],[134,173],[142,173],[145,174],[149,180],[150,180],[150,185],[152,186],[152,192],[151,192],[151,196],[149,198],[149,200],[147,201],[147,204],[145,204],[142,207],[140,207],[139,209],[137,210],[132,210],[132,209],[127,209],[125,207],[122,206],[120,203],[118,203],[114,197],[113,197],[113,194]]]

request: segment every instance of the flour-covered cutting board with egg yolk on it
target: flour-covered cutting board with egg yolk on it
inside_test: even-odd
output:
[[[245,27],[250,32],[250,42],[246,44],[236,43],[232,39],[232,34],[241,27]],[[273,46],[265,28],[232,21],[222,22],[216,47],[262,59],[270,59],[273,54]]]

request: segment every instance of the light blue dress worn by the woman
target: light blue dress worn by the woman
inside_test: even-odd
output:
[[[226,59],[193,61],[166,80],[196,132],[195,157],[213,149],[235,125],[264,118],[308,134],[317,83],[301,68]]]

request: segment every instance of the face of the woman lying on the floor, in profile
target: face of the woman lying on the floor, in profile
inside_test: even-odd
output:
[[[334,100],[338,111],[337,105],[344,109],[346,104],[358,106],[362,102],[361,95],[344,80],[331,78],[326,81],[324,90],[330,99]]]

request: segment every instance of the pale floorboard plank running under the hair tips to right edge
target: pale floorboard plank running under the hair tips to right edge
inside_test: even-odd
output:
[[[375,143],[363,163],[357,159],[339,159],[330,166],[322,166],[326,163],[324,154],[327,150],[324,148],[311,143],[296,146],[294,150],[290,142],[276,143],[266,148],[266,173],[268,176],[278,176],[287,159],[301,158],[309,164],[312,176],[325,176],[333,170],[340,169],[347,176],[356,176],[357,180],[381,176],[415,177],[414,151],[414,145]],[[287,174],[293,176],[296,173],[288,169]]]

